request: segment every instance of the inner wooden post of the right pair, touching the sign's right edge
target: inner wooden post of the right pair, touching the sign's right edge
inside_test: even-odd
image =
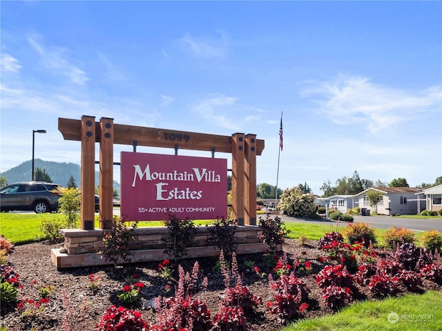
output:
[[[232,219],[244,225],[244,134],[232,134]]]

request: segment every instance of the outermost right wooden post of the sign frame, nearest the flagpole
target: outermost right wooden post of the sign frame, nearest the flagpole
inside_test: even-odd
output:
[[[245,139],[245,223],[256,225],[256,134],[246,134]]]

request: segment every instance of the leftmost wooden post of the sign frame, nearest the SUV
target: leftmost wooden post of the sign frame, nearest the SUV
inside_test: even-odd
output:
[[[81,117],[81,230],[95,228],[95,117]]]

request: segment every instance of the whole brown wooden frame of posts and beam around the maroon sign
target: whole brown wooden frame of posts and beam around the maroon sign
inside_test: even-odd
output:
[[[95,219],[95,143],[99,143],[99,228],[112,227],[113,145],[226,152],[232,154],[232,218],[238,225],[256,225],[256,155],[264,150],[264,140],[256,134],[231,136],[178,132],[159,128],[115,124],[113,119],[93,116],[81,120],[58,120],[65,140],[81,141],[81,230],[93,230]],[[130,220],[128,220],[130,221]]]

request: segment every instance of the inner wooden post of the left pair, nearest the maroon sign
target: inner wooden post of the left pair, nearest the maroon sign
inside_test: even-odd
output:
[[[113,119],[99,119],[99,227],[113,224]]]

